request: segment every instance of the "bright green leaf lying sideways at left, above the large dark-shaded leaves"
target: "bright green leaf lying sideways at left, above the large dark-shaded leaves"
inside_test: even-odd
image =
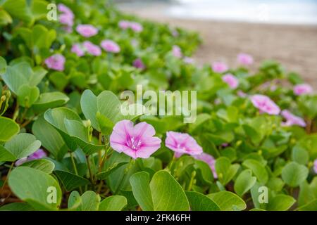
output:
[[[34,110],[44,112],[49,108],[65,105],[69,101],[68,96],[61,92],[46,92],[40,94],[39,99],[32,105]]]

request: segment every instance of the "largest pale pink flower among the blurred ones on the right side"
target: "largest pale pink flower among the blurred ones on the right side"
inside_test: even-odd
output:
[[[251,102],[261,113],[268,113],[270,115],[278,115],[280,113],[278,105],[276,105],[271,98],[268,98],[268,96],[255,94],[251,96]]]

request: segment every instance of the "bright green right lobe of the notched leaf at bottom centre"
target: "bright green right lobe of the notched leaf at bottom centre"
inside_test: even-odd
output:
[[[166,171],[154,174],[150,183],[151,195],[156,211],[187,211],[189,203],[178,181]]]

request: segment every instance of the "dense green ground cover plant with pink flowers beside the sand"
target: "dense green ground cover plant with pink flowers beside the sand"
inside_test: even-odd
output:
[[[317,96],[278,62],[199,67],[107,1],[0,1],[0,34],[0,210],[317,210]],[[123,115],[137,85],[197,120]]]

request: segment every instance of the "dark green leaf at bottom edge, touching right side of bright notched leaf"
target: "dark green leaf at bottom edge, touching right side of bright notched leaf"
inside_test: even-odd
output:
[[[186,191],[192,211],[220,211],[220,207],[211,198],[202,193]]]

